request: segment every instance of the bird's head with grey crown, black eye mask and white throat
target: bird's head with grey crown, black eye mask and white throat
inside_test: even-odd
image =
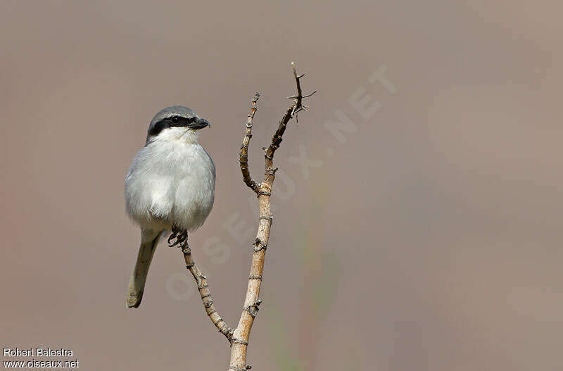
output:
[[[184,106],[170,106],[164,108],[154,116],[148,125],[146,142],[155,138],[195,137],[196,130],[211,127],[208,120],[200,118],[194,111]]]

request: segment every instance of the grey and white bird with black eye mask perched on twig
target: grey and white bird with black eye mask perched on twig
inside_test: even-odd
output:
[[[215,163],[198,143],[210,127],[190,108],[170,106],[148,125],[146,144],[125,177],[125,210],[141,229],[141,245],[129,280],[126,304],[138,308],[158,240],[172,231],[169,246],[188,247],[188,232],[203,225],[215,200]]]

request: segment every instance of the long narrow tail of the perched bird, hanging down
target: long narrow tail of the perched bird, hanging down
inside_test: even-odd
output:
[[[143,299],[143,291],[145,289],[146,275],[148,268],[151,266],[154,251],[158,244],[158,238],[162,232],[141,232],[141,247],[137,255],[137,263],[129,280],[129,295],[127,296],[127,307],[137,308]]]

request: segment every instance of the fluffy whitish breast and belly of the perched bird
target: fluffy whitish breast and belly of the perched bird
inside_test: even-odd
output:
[[[151,229],[196,229],[215,198],[215,165],[182,127],[161,132],[135,156],[125,178],[127,212]]]

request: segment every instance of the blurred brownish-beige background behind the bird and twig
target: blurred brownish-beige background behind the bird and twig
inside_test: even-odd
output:
[[[563,368],[559,1],[1,8],[2,346],[71,348],[81,370],[225,370],[179,251],[160,246],[125,308],[123,179],[160,108],[213,122],[215,208],[191,246],[236,324],[257,222],[236,153],[258,90],[261,172],[296,61],[319,93],[275,159],[253,370]],[[368,82],[379,68],[394,93]],[[367,118],[350,104],[366,95]]]

